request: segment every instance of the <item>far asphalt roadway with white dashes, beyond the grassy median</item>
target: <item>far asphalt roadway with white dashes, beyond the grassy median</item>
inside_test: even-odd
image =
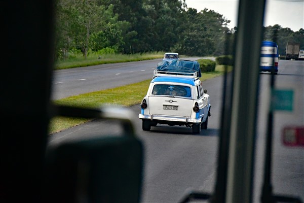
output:
[[[204,57],[214,60],[214,57]],[[181,58],[197,60],[199,58]],[[101,64],[54,71],[52,100],[92,91],[120,87],[153,77],[153,71],[162,59]]]

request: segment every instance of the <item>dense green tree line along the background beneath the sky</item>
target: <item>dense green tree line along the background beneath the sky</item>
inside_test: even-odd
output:
[[[232,54],[237,27],[213,10],[187,8],[185,0],[58,0],[56,58],[79,51],[145,53],[172,51],[189,56]],[[283,54],[287,41],[300,42],[304,30],[265,27],[264,40],[277,40]],[[230,49],[225,49],[230,47]]]

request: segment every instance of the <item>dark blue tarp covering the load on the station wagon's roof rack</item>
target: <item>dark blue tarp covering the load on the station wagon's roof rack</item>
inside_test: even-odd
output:
[[[159,71],[179,72],[179,73],[194,73],[198,72],[198,77],[202,77],[200,63],[192,60],[177,60],[162,61],[158,64]]]

